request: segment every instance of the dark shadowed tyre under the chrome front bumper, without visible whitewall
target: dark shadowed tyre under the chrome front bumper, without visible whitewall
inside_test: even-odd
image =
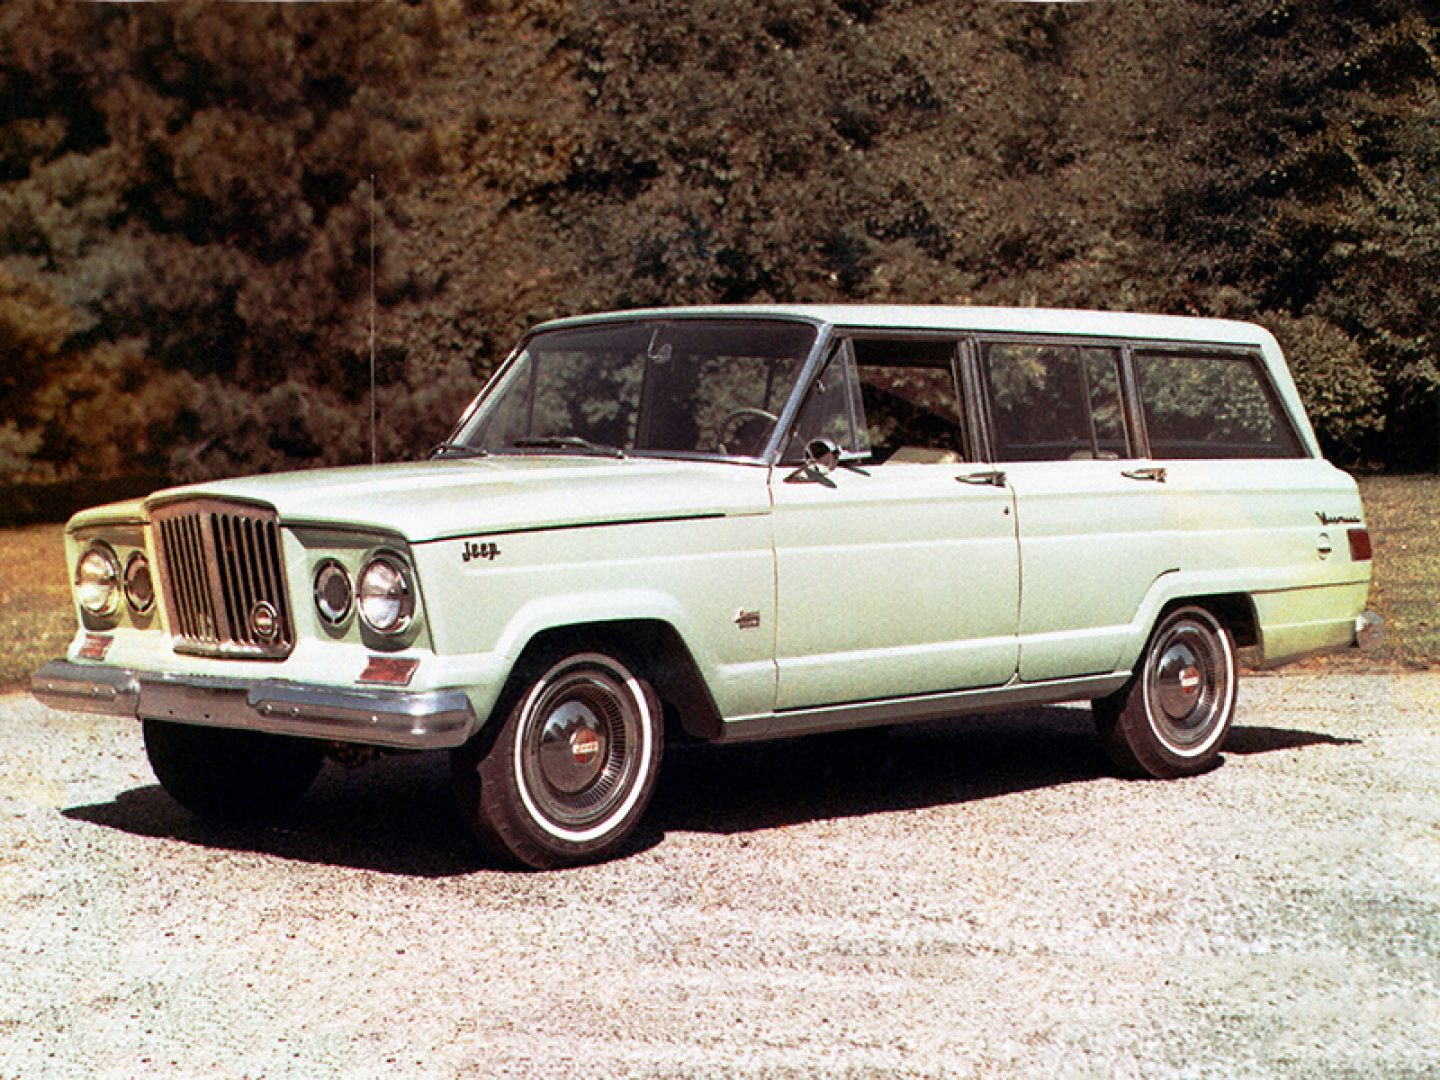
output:
[[[193,814],[216,822],[266,821],[294,808],[324,763],[320,743],[265,732],[145,720],[156,779]]]

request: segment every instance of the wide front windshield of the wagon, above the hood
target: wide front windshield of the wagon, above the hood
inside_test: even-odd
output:
[[[765,452],[815,327],[675,320],[531,337],[454,452],[707,455]]]

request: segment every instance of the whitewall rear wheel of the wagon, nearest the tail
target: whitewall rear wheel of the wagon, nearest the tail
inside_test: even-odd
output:
[[[1151,635],[1126,685],[1094,703],[1112,763],[1172,779],[1212,769],[1236,714],[1236,647],[1204,608],[1179,608]]]

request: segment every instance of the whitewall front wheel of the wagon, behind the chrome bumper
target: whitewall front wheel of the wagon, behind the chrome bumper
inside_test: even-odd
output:
[[[634,831],[660,772],[649,683],[602,649],[528,667],[498,732],[451,757],[459,809],[494,854],[536,870],[593,863]]]

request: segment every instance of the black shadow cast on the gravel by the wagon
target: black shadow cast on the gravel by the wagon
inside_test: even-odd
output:
[[[1351,744],[1310,732],[1236,727],[1227,753]],[[668,747],[655,799],[626,854],[671,831],[734,834],[805,821],[962,804],[1109,776],[1089,708],[1051,706],[739,746]],[[446,756],[400,755],[357,769],[327,763],[274,825],[217,827],[158,785],[62,811],[137,837],[406,877],[497,868],[449,793]]]

